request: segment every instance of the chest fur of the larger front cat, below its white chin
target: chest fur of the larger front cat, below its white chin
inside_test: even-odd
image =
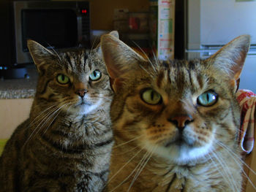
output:
[[[131,146],[130,148],[134,149],[135,147]],[[241,183],[241,170],[234,165],[236,160],[230,159],[229,154],[222,154],[223,152],[217,153],[217,155],[221,154],[224,159],[229,158],[229,161],[222,162],[226,167],[229,167],[224,173],[219,172],[223,165],[216,160],[206,161],[202,159],[189,164],[178,165],[156,155],[151,156],[151,159],[147,161],[146,158],[150,155],[146,155],[145,151],[137,153],[135,150],[132,155],[128,154],[131,153],[131,150],[125,153],[126,151],[127,149],[124,148],[113,147],[108,185],[111,190],[231,192],[239,191],[241,188],[238,185]],[[230,188],[230,183],[233,183],[237,188]]]

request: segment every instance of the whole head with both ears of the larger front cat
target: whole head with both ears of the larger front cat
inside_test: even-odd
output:
[[[117,39],[103,37],[116,92],[111,107],[116,135],[181,164],[218,150],[217,142],[233,143],[240,118],[236,80],[249,38],[236,41],[206,61],[150,64]]]

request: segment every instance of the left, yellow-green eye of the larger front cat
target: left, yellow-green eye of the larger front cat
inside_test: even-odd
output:
[[[141,94],[141,99],[145,101],[147,104],[159,104],[162,101],[162,96],[154,91],[153,89],[149,88],[143,91]]]

